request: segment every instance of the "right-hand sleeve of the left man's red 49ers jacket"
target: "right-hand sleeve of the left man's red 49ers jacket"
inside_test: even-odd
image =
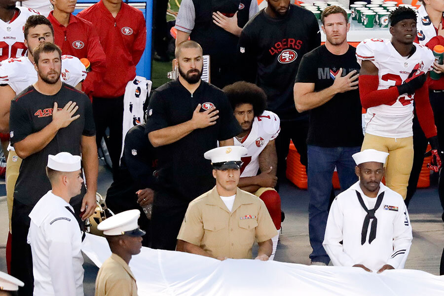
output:
[[[100,44],[99,35],[93,27],[90,28],[88,36],[87,59],[91,64],[91,72],[87,74],[85,81],[83,81],[82,90],[90,95],[94,92],[94,85],[99,83],[106,71],[106,55]]]

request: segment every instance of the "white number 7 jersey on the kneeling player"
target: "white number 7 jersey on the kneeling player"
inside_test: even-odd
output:
[[[234,137],[234,145],[247,148],[247,155],[242,157],[241,177],[253,177],[258,174],[259,154],[267,146],[268,142],[279,135],[280,119],[271,111],[263,111],[256,116],[250,133],[241,142]]]

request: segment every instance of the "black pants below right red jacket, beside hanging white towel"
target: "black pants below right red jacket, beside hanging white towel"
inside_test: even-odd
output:
[[[123,96],[117,98],[93,97],[92,106],[94,123],[96,124],[97,147],[100,147],[106,129],[110,129],[107,148],[112,162],[112,177],[115,179],[118,175],[122,151]]]

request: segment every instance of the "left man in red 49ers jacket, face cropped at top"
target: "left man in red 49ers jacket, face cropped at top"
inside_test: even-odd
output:
[[[75,2],[51,0],[51,3],[54,10],[48,20],[54,27],[54,43],[62,49],[62,54],[88,59],[91,71],[82,83],[82,90],[89,96],[94,95],[94,86],[100,83],[106,70],[106,56],[99,36],[93,24],[72,14]]]

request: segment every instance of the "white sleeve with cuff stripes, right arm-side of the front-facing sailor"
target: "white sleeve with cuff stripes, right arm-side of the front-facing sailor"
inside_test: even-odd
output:
[[[412,240],[411,224],[407,207],[400,203],[399,211],[393,220],[393,253],[387,260],[387,264],[395,268],[404,268]]]

